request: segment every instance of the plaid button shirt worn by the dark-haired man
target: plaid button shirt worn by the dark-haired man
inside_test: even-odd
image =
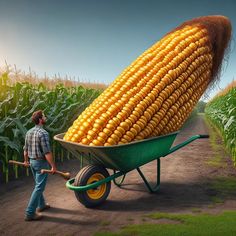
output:
[[[51,152],[48,132],[42,126],[36,125],[26,133],[24,150],[29,158],[45,158]]]

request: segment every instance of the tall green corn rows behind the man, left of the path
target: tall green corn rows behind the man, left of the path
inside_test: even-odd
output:
[[[57,84],[49,89],[44,83],[12,83],[8,73],[3,73],[0,77],[0,177],[8,182],[9,168],[13,168],[14,176],[18,178],[20,167],[9,167],[8,160],[23,160],[24,137],[33,126],[31,116],[34,111],[44,110],[47,116],[45,128],[51,136],[53,153],[56,159],[63,160],[67,153],[52,137],[65,132],[74,117],[100,93],[100,90],[82,86],[65,87]]]

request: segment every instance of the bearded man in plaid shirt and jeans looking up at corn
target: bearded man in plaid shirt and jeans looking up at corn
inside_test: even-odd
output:
[[[52,173],[56,171],[56,165],[49,144],[49,135],[43,129],[46,123],[46,117],[42,110],[36,111],[32,115],[32,121],[35,127],[26,133],[24,146],[24,163],[25,166],[31,167],[35,180],[35,187],[31,194],[28,206],[26,208],[25,221],[40,220],[42,215],[36,212],[44,211],[50,208],[45,202],[43,192],[47,183],[47,174],[41,173],[41,169],[48,169],[50,164]]]

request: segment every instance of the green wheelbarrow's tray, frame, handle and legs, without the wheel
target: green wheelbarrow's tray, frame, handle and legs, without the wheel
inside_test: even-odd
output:
[[[64,133],[54,136],[54,139],[71,152],[75,156],[84,156],[88,163],[93,165],[101,165],[104,168],[113,169],[114,174],[97,181],[92,184],[84,186],[74,186],[75,178],[67,181],[67,188],[74,191],[87,191],[97,188],[98,186],[107,183],[111,180],[115,182],[115,179],[120,176],[125,176],[131,170],[136,169],[142,177],[144,183],[150,192],[156,192],[160,185],[160,158],[165,157],[170,153],[177,151],[178,149],[186,146],[192,141],[199,138],[208,138],[209,135],[194,135],[186,141],[171,147],[179,131],[170,133],[168,135],[158,136],[154,138],[144,139],[140,141],[134,141],[128,144],[115,145],[115,146],[88,146],[79,143],[68,142],[63,140]],[[152,187],[143,173],[139,169],[140,166],[157,160],[157,184]],[[118,171],[118,172],[117,172]],[[123,182],[123,180],[122,180]]]

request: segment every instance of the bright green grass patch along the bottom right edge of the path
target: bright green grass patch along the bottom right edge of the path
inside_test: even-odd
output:
[[[217,215],[210,214],[168,214],[155,213],[149,215],[152,219],[169,219],[179,222],[179,224],[140,224],[129,225],[117,233],[97,232],[95,236],[156,236],[156,235],[236,235],[236,211],[223,212]]]

